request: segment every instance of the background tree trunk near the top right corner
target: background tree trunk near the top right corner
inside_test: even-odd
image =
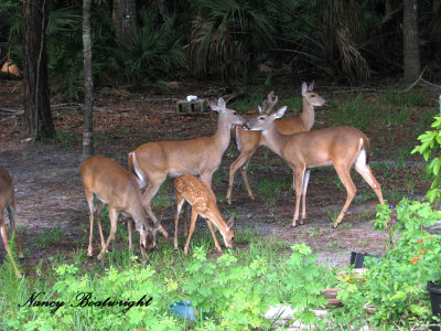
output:
[[[406,85],[412,84],[421,74],[417,4],[418,0],[404,1],[402,53]]]

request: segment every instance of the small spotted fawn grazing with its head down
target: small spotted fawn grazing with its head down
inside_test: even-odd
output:
[[[174,217],[174,249],[178,249],[179,215],[185,201],[192,205],[192,220],[190,223],[190,232],[184,253],[189,254],[190,241],[194,232],[197,215],[201,215],[205,218],[218,252],[222,252],[222,248],[219,243],[217,243],[212,223],[219,229],[222,237],[224,238],[225,246],[233,248],[233,239],[235,235],[235,231],[233,228],[234,215],[229,217],[228,223],[225,223],[224,217],[217,209],[216,196],[214,195],[212,189],[209,189],[209,186],[202,182],[198,178],[195,178],[189,173],[176,178],[174,181],[174,189],[176,191],[178,206],[176,215]],[[184,223],[186,221],[184,220]]]

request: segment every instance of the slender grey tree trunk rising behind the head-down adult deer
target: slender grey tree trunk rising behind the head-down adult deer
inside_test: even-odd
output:
[[[83,160],[94,154],[93,116],[94,116],[94,79],[92,73],[92,0],[83,0],[83,54],[84,54],[84,125]]]

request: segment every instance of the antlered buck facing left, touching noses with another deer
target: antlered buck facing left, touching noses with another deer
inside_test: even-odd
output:
[[[346,202],[334,223],[334,227],[342,222],[344,214],[355,196],[356,188],[351,179],[351,168],[365,179],[383,202],[381,186],[372,173],[368,166],[370,143],[365,134],[353,127],[331,127],[316,131],[299,132],[290,136],[280,134],[275,120],[282,117],[287,107],[271,113],[278,98],[263,102],[263,109],[259,106],[260,115],[247,121],[244,127],[249,130],[260,130],[267,146],[292,168],[294,172],[295,211],[292,226],[299,218],[300,197],[302,199],[302,220],[306,218],[305,196],[310,169],[334,166],[340,180],[346,189]]]

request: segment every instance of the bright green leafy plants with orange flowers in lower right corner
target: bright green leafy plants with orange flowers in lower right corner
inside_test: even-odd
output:
[[[426,285],[441,279],[441,236],[427,233],[424,226],[440,216],[429,203],[407,199],[396,207],[378,207],[375,227],[388,229],[395,247],[380,259],[367,258],[368,273],[363,281],[341,280],[344,311],[334,314],[336,321],[349,320],[355,327],[395,323],[410,329],[429,319]],[[366,305],[374,310],[370,317]]]

